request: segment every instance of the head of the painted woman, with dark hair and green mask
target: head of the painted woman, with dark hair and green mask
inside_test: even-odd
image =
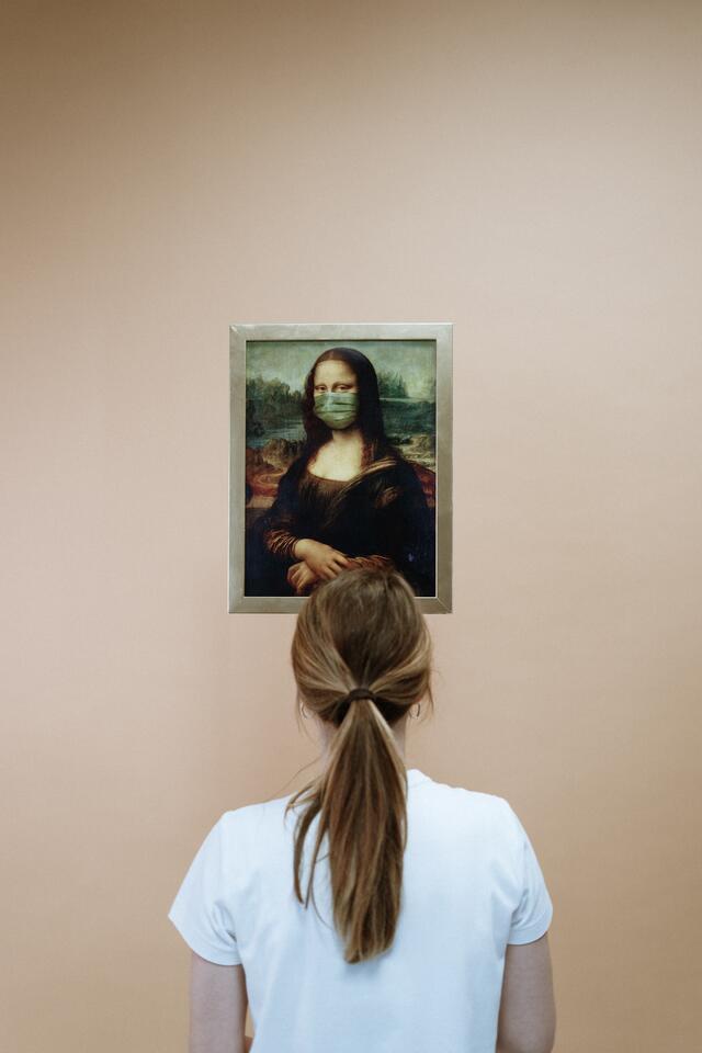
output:
[[[308,452],[331,438],[335,427],[359,428],[366,456],[388,448],[373,363],[355,348],[328,348],[315,360],[303,393]]]

